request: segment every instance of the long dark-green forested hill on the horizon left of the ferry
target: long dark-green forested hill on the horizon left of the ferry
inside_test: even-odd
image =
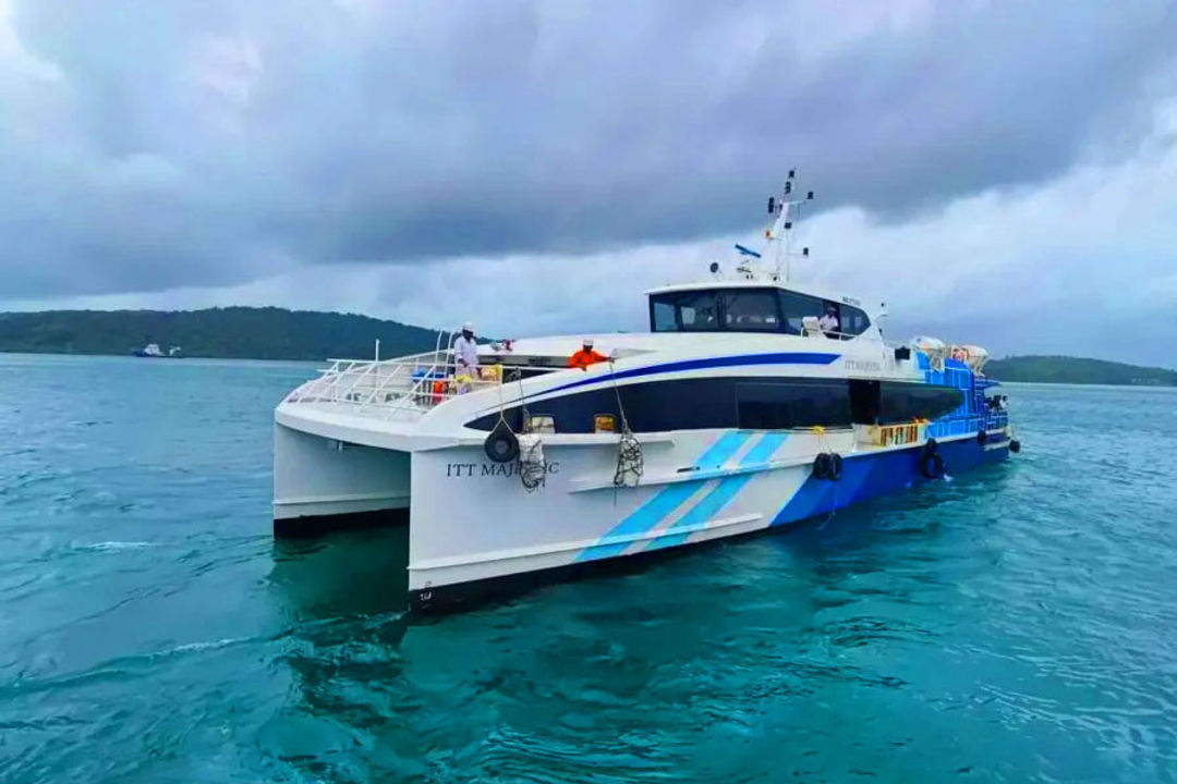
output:
[[[395,321],[284,308],[0,313],[0,351],[129,354],[147,343],[182,356],[261,360],[370,357],[431,350],[437,333]]]

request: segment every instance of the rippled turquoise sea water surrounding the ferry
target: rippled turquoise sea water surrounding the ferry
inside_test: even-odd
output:
[[[308,375],[0,355],[0,782],[1177,779],[1177,390],[1010,387],[1008,464],[415,621],[404,531],[270,536]]]

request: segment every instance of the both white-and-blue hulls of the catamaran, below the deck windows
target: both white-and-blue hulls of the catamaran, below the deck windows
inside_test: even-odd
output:
[[[410,521],[414,608],[437,609],[518,582],[603,561],[737,536],[827,514],[926,481],[924,444],[860,450],[850,430],[817,435],[698,430],[643,435],[637,487],[616,487],[617,437],[548,436],[544,483],[524,488],[517,463],[481,444],[414,453],[344,443],[275,425],[277,532],[321,515],[394,514]],[[822,451],[840,480],[812,476]],[[1008,456],[1004,431],[943,440],[949,474]],[[294,490],[297,495],[285,492]],[[285,530],[284,530],[285,529]]]

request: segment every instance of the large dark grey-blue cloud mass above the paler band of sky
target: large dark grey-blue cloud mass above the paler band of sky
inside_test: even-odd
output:
[[[1177,40],[1145,2],[28,0],[7,24],[6,299],[709,236],[792,165],[825,207],[904,215],[1117,155]]]

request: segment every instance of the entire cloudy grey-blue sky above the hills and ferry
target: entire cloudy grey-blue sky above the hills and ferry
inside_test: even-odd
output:
[[[0,308],[641,328],[818,192],[890,333],[1177,364],[1172,2],[0,0]]]

